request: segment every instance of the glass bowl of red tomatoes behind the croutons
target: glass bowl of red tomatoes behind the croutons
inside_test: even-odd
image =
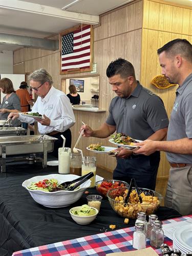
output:
[[[120,180],[100,180],[95,183],[98,193],[104,197],[109,190],[119,187],[129,187],[129,184]]]

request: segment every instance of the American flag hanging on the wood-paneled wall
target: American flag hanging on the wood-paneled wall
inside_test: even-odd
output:
[[[91,68],[91,25],[61,37],[61,72]]]

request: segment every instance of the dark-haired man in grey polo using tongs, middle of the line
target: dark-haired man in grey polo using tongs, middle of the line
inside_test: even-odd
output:
[[[162,140],[167,133],[168,118],[163,101],[136,80],[133,65],[122,58],[110,63],[106,70],[112,90],[109,116],[99,130],[84,125],[83,136],[106,138],[124,133],[138,140]],[[139,187],[155,189],[160,153],[151,156],[133,155],[132,151],[118,148],[114,179],[130,182],[135,178]]]

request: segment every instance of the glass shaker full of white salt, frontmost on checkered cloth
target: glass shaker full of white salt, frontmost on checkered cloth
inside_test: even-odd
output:
[[[133,233],[133,248],[135,249],[146,248],[146,236],[144,233],[143,223],[135,224],[135,231]]]

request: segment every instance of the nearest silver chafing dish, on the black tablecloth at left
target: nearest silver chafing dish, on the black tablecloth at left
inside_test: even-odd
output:
[[[43,153],[42,167],[47,167],[47,153],[54,149],[54,137],[44,135],[0,137],[0,156],[2,156],[2,173],[6,172],[6,159],[8,156]]]

